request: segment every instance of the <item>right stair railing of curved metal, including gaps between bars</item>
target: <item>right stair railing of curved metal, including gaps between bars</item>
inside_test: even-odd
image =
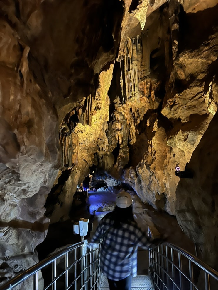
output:
[[[153,238],[148,227],[148,236]],[[218,272],[171,243],[149,249],[149,271],[157,290],[216,290]]]

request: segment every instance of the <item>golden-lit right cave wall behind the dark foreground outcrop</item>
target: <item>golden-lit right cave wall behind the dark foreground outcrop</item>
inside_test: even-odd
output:
[[[163,4],[118,59],[131,155],[122,178],[144,202],[173,215],[175,166],[185,169],[217,111],[215,11],[186,14],[176,1]],[[202,17],[214,26],[202,26],[205,34],[196,40]]]

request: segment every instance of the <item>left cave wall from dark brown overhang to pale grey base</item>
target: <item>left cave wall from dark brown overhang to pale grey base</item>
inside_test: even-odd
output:
[[[96,163],[108,115],[97,102],[99,73],[114,62],[122,17],[119,0],[0,3],[0,283],[37,262],[57,175],[70,171],[49,208],[53,222],[65,219],[77,183]],[[101,132],[88,144],[95,111]]]

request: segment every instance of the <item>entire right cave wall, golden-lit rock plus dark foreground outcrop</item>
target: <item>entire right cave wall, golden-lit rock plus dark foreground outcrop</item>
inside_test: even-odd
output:
[[[217,1],[152,3],[159,10],[148,6],[145,29],[136,37],[135,22],[132,42],[121,42],[118,59],[124,62],[120,101],[129,107],[130,124],[122,179],[144,202],[175,214],[217,270]],[[175,165],[184,170],[186,162],[193,179],[175,176]]]

